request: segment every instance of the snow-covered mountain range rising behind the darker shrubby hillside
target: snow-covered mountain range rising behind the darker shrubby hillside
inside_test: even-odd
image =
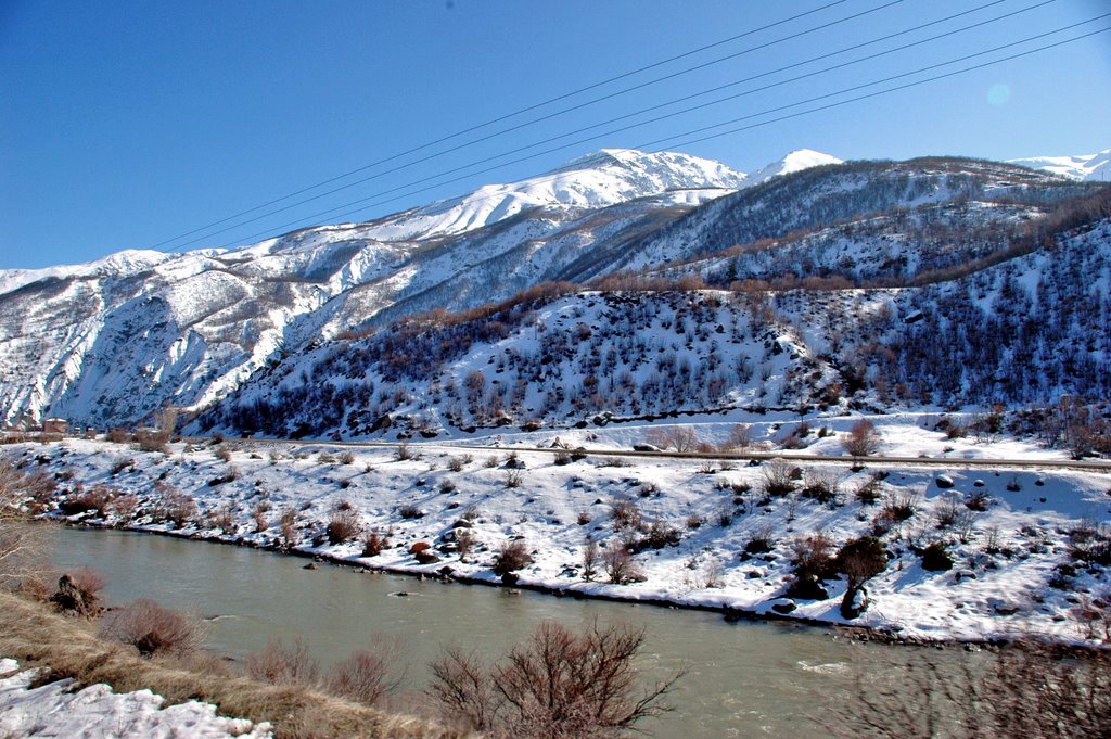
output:
[[[540,177],[241,249],[131,251],[0,271],[0,413],[9,422],[57,415],[104,426],[164,403],[199,410],[314,347],[548,281],[662,274],[738,244],[878,212],[1087,192],[971,160],[814,167],[834,161],[794,152],[748,178],[682,153],[603,150]],[[1044,214],[1037,204],[1015,208],[968,218],[990,224]],[[829,270],[829,260],[803,260],[795,271],[818,267]],[[882,260],[875,270],[895,273]]]

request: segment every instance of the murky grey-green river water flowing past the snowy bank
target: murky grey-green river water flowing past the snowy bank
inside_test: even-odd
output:
[[[660,739],[825,737],[813,719],[851,687],[851,672],[894,649],[850,643],[823,629],[728,623],[718,613],[513,593],[506,589],[361,573],[249,548],[124,531],[61,529],[59,568],[87,565],[108,581],[110,603],[152,598],[209,619],[208,647],[236,660],[276,637],[302,637],[323,666],[400,637],[404,690],[427,683],[443,646],[500,656],[546,619],[570,627],[624,620],[647,629],[648,679],[685,667],[671,696],[677,710],[642,725]],[[401,595],[407,593],[407,595]]]

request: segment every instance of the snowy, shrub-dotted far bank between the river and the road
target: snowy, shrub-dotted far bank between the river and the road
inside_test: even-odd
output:
[[[59,478],[61,492],[70,491],[60,496],[67,501],[66,513],[76,520],[273,548],[289,542],[356,565],[423,573],[447,566],[456,576],[489,581],[499,580],[491,569],[494,553],[517,539],[533,559],[518,572],[523,583],[754,613],[788,611],[790,617],[825,622],[847,622],[839,610],[847,583],[843,578],[827,580],[823,599],[783,598],[794,543],[819,531],[837,546],[875,532],[881,511],[901,498],[913,515],[882,533],[890,561],[867,583],[868,610],[849,622],[919,639],[1029,632],[1067,641],[1089,639],[1083,612],[1111,598],[1111,572],[1091,557],[1077,555],[1092,542],[1108,547],[1111,541],[1111,476],[969,468],[964,457],[1062,457],[1018,440],[948,441],[921,428],[919,420],[879,423],[882,453],[944,453],[953,457],[951,466],[873,460],[852,469],[848,460],[792,460],[788,465],[801,468],[801,479],[794,491],[778,497],[764,495],[764,485],[765,471],[779,462],[590,456],[593,445],[629,449],[642,442],[643,427],[573,432],[563,440],[588,448],[584,458],[574,460],[550,452],[443,443],[411,445],[409,459],[399,459],[396,447],[240,441],[219,447],[177,443],[163,455],[66,440],[12,446],[7,453],[26,460],[28,469],[41,467]],[[784,419],[781,430],[795,422]],[[822,421],[812,423],[817,429]],[[834,432],[848,426],[837,419],[825,423]],[[699,432],[711,438],[724,435],[724,427],[700,426]],[[551,442],[549,437],[506,437],[500,442],[541,446]],[[841,452],[837,437],[814,439],[811,435],[812,450]],[[945,447],[953,448],[943,452]],[[832,500],[804,497],[804,487],[823,480],[835,483]],[[942,489],[939,481],[952,487]],[[103,518],[94,510],[77,511],[78,483],[87,498],[97,486],[114,497]],[[861,489],[877,500],[862,500],[867,496]],[[166,520],[167,501],[174,492],[199,508],[182,526]],[[614,507],[622,502],[635,509],[640,532],[622,529],[614,519]],[[290,522],[284,533],[283,513]],[[330,545],[328,523],[343,515],[357,522],[359,535]],[[679,541],[635,555],[643,581],[610,583],[604,570],[594,581],[583,579],[588,536],[604,548],[622,537],[644,538],[653,525],[658,532],[673,529]],[[463,531],[474,546],[460,559],[453,549]],[[370,532],[388,538],[390,546],[364,557]],[[754,538],[765,538],[771,551],[748,553]],[[419,563],[410,553],[417,542],[428,542],[440,561]],[[923,569],[921,552],[932,542],[944,546],[951,569]]]

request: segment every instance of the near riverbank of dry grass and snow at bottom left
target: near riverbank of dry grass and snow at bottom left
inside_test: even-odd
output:
[[[218,669],[218,659],[143,659],[129,647],[100,639],[88,622],[62,618],[42,603],[3,591],[0,591],[0,656],[17,661],[20,669],[36,670],[33,677],[24,672],[17,676],[18,680],[10,679],[10,683],[3,681],[0,733],[13,731],[13,736],[24,736],[24,731],[33,730],[30,725],[16,723],[24,718],[33,723],[36,709],[56,706],[60,691],[69,691],[76,683],[112,689],[78,693],[81,696],[78,709],[88,713],[80,723],[86,729],[90,722],[119,718],[140,721],[144,730],[150,730],[143,736],[178,736],[174,731],[184,731],[189,736],[252,739],[461,737],[423,720],[391,716],[308,689],[278,688],[237,677]],[[9,668],[3,672],[14,669],[11,662]],[[41,690],[50,685],[57,689],[31,695],[33,688]],[[156,696],[137,691],[153,691]],[[62,702],[68,706],[69,701]],[[184,708],[160,710],[161,706]],[[67,713],[71,710],[66,708]],[[136,712],[143,717],[137,717]],[[58,728],[54,719],[50,722],[52,729]],[[111,728],[118,730],[119,726]]]

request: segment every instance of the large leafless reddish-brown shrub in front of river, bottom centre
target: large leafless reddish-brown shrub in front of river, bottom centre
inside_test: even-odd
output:
[[[492,668],[449,650],[431,665],[429,695],[446,718],[494,739],[617,737],[671,710],[663,698],[682,677],[640,688],[643,646],[643,628],[595,621],[574,633],[549,621]]]

